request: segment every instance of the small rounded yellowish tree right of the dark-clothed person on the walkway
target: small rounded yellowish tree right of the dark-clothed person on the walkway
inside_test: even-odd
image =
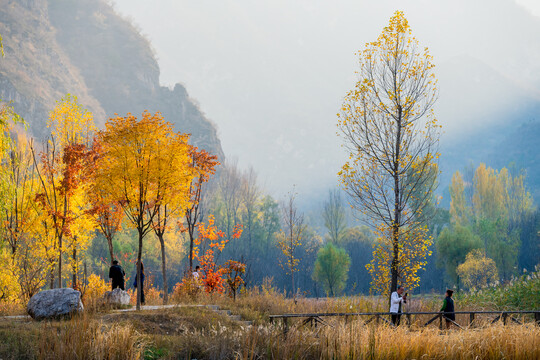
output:
[[[495,261],[476,249],[467,254],[465,262],[457,267],[457,274],[463,285],[470,289],[479,289],[497,281],[499,274]]]

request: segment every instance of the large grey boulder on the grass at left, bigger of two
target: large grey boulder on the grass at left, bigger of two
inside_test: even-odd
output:
[[[57,319],[81,313],[84,306],[81,293],[71,288],[40,291],[28,302],[28,314],[36,319]]]

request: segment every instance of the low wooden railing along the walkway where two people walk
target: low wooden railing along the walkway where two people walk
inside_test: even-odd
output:
[[[476,315],[496,315],[496,317],[491,321],[491,323],[495,323],[497,321],[503,322],[504,325],[508,323],[508,320],[511,320],[517,324],[521,324],[521,321],[515,318],[515,315],[520,314],[533,314],[534,315],[534,322],[537,325],[540,325],[540,310],[526,310],[526,311],[455,311],[454,314],[460,315],[460,314],[468,314],[469,315],[469,326],[473,326]],[[324,317],[343,317],[345,319],[345,322],[347,323],[351,317],[369,317],[364,324],[369,324],[372,321],[375,321],[377,324],[380,322],[385,322],[390,324],[391,326],[395,326],[392,324],[386,317],[390,317],[392,313],[389,312],[359,312],[359,313],[316,313],[316,314],[282,314],[282,315],[270,315],[270,322],[273,323],[275,320],[281,319],[283,321],[283,335],[286,337],[287,332],[289,331],[289,319],[293,318],[304,318],[304,321],[302,321],[302,325],[310,324],[311,326],[317,326],[318,324],[321,325],[327,325],[326,321],[323,320]],[[394,314],[395,315],[395,314]],[[412,325],[412,315],[435,315],[433,318],[431,318],[429,321],[424,323],[422,326],[428,326],[429,324],[433,323],[437,319],[439,320],[439,328],[442,329],[442,320],[448,320],[452,322],[454,325],[456,325],[458,328],[463,329],[461,325],[456,323],[454,320],[449,319],[445,316],[445,313],[443,312],[429,312],[429,311],[419,311],[419,312],[404,312],[401,313],[401,315],[407,319],[407,325]],[[514,316],[513,316],[514,315]]]

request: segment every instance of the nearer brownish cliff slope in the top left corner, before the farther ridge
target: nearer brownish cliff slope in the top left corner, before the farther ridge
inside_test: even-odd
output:
[[[101,121],[105,112],[88,94],[84,78],[55,40],[44,0],[0,0],[0,99],[11,100],[37,137],[46,135],[48,111],[66,93],[76,94]]]

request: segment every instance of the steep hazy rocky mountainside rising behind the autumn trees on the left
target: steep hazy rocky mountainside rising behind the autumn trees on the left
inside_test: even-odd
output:
[[[47,134],[48,112],[75,94],[102,125],[114,114],[161,111],[191,143],[223,156],[213,124],[177,84],[160,86],[159,66],[129,21],[102,0],[0,0],[0,99],[38,137]]]

